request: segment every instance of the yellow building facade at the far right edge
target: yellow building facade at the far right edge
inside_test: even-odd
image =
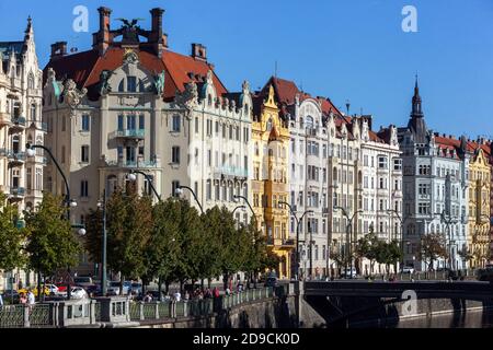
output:
[[[484,267],[490,258],[491,168],[488,154],[477,144],[469,163],[469,237],[471,267]]]

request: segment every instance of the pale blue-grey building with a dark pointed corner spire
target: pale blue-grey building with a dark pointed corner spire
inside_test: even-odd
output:
[[[403,152],[404,262],[417,270],[429,268],[421,257],[420,242],[429,233],[444,236],[448,258],[433,261],[433,268],[466,268],[460,252],[468,242],[467,140],[434,133],[426,127],[420,89],[416,85],[406,128],[399,130]]]

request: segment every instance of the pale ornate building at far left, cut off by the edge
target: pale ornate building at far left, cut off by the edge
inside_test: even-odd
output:
[[[0,191],[18,207],[20,218],[24,210],[35,210],[43,200],[45,158],[39,151],[33,158],[25,152],[26,143],[44,142],[42,84],[30,18],[24,40],[0,42]],[[18,225],[22,224],[20,219]],[[4,273],[0,289],[7,287],[11,277],[15,282],[34,281],[33,273],[18,269],[13,276],[12,271]]]

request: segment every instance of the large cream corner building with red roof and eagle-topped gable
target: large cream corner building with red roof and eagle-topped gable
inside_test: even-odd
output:
[[[46,145],[78,202],[72,223],[83,222],[104,189],[111,195],[125,187],[136,171],[148,175],[137,176],[142,192],[152,194],[148,178],[162,199],[186,186],[197,200],[191,190],[183,196],[197,210],[218,205],[232,211],[234,196],[252,199],[249,84],[229,93],[200,44],[192,45],[191,56],[169,50],[164,11],[150,12],[150,31],[128,22],[111,30],[112,10],[100,8],[91,50],[67,55],[66,43],[51,46],[44,70]],[[65,192],[53,164],[45,185]],[[237,212],[240,222],[250,217]]]

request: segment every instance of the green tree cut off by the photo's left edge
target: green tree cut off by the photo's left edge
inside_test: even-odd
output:
[[[26,262],[25,230],[19,229],[19,209],[0,194],[0,269],[11,271]]]

